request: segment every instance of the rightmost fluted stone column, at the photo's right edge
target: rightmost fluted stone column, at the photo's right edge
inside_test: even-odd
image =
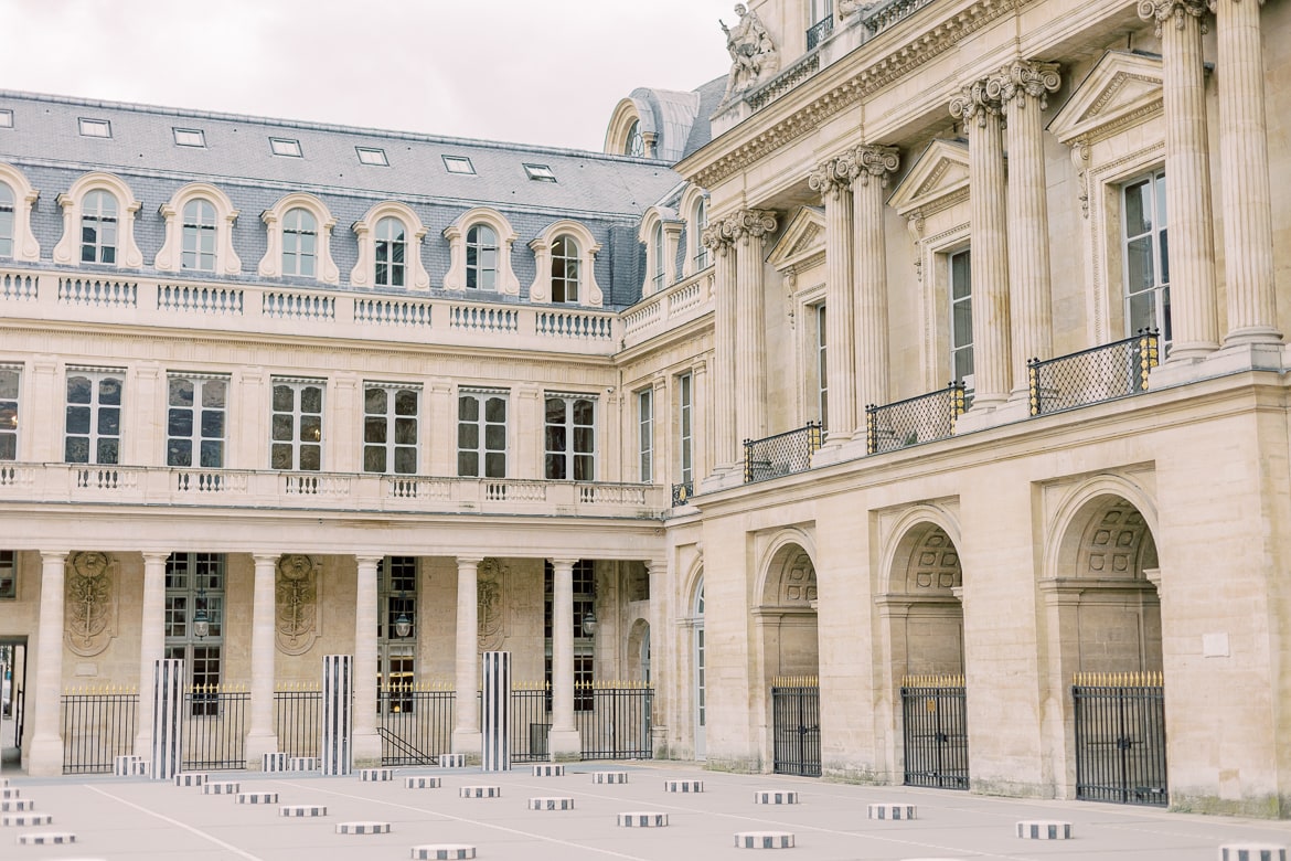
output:
[[[1264,120],[1263,0],[1211,0],[1210,5],[1217,18],[1219,37],[1220,188],[1228,281],[1224,345],[1281,343],[1273,280],[1268,125]],[[1168,174],[1166,182],[1170,182]]]

